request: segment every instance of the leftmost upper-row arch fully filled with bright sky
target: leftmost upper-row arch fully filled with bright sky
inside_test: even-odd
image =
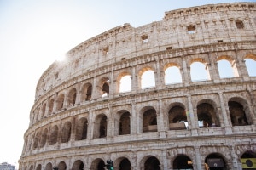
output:
[[[117,78],[117,89],[119,93],[131,91],[131,74],[129,72],[123,72],[119,74]]]

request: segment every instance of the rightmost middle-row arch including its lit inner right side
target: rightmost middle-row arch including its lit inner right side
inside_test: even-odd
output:
[[[247,102],[244,99],[231,98],[228,105],[232,126],[245,126],[253,123]]]

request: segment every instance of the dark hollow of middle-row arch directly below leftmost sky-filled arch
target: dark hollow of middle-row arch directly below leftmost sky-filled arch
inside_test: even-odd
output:
[[[130,113],[125,111],[122,113],[119,121],[119,135],[130,134]]]

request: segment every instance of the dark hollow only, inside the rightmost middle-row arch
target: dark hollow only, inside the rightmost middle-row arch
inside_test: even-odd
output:
[[[230,118],[232,126],[245,126],[249,125],[247,121],[247,114],[243,105],[236,101],[236,99],[230,99],[229,103]]]

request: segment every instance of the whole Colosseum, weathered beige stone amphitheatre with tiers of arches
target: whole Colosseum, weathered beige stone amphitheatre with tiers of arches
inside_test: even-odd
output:
[[[19,169],[256,169],[247,63],[256,3],[181,8],[91,37],[39,78]]]

